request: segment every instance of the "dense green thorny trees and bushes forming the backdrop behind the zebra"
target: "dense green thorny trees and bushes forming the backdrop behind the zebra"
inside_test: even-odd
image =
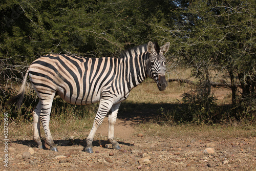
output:
[[[200,104],[199,98],[215,101],[209,82],[216,79],[213,73],[225,70],[232,83],[233,108],[240,110],[233,110],[233,115],[247,115],[254,111],[256,98],[255,18],[254,0],[4,0],[0,2],[1,98],[6,101],[13,95],[8,88],[19,83],[30,63],[42,55],[118,57],[122,50],[148,41],[170,41],[167,59],[176,58],[175,65],[192,68],[207,92],[192,93],[187,104]],[[34,98],[24,105],[30,106]],[[197,106],[190,108],[204,108]],[[22,112],[31,113],[32,107],[27,108]],[[204,109],[200,121],[213,113]]]

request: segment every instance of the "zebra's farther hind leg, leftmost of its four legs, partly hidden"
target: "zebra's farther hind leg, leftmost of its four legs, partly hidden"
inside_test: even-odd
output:
[[[40,112],[41,112],[41,101],[38,102],[35,110],[33,111],[33,132],[34,132],[34,141],[37,143],[38,148],[46,148],[41,142],[40,135]]]

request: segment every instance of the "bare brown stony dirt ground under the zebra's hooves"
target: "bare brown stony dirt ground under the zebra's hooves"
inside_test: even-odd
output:
[[[9,140],[8,167],[1,158],[0,170],[256,170],[256,137],[202,140],[194,134],[166,139],[140,133],[139,119],[117,120],[115,137],[121,151],[106,141],[106,118],[96,133],[93,154],[82,152],[86,143],[78,134],[53,135],[59,152],[49,146],[37,149],[32,135],[28,140]]]

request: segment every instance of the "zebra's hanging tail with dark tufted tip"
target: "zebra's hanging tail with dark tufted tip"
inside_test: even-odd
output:
[[[24,99],[24,94],[25,94],[25,88],[26,88],[26,82],[27,82],[27,78],[28,78],[28,74],[29,73],[29,69],[25,74],[25,77],[23,79],[23,83],[22,83],[22,87],[20,87],[18,93],[16,96],[13,96],[9,101],[8,104],[13,104],[16,103],[16,107],[18,107],[18,109],[20,109],[20,105],[23,102]]]

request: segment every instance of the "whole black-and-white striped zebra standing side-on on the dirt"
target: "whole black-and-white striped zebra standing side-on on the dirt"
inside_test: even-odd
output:
[[[22,104],[28,76],[39,102],[33,111],[33,139],[38,148],[46,148],[40,138],[40,121],[46,134],[46,143],[58,152],[49,129],[50,112],[55,95],[65,101],[85,105],[99,102],[97,114],[83,151],[93,153],[93,138],[104,117],[109,114],[108,141],[113,149],[121,149],[114,139],[114,125],[121,101],[145,78],[153,78],[160,91],[165,90],[166,59],[163,53],[169,42],[161,48],[157,42],[137,46],[121,53],[120,58],[87,58],[66,54],[49,54],[32,62],[22,86],[10,102]]]

